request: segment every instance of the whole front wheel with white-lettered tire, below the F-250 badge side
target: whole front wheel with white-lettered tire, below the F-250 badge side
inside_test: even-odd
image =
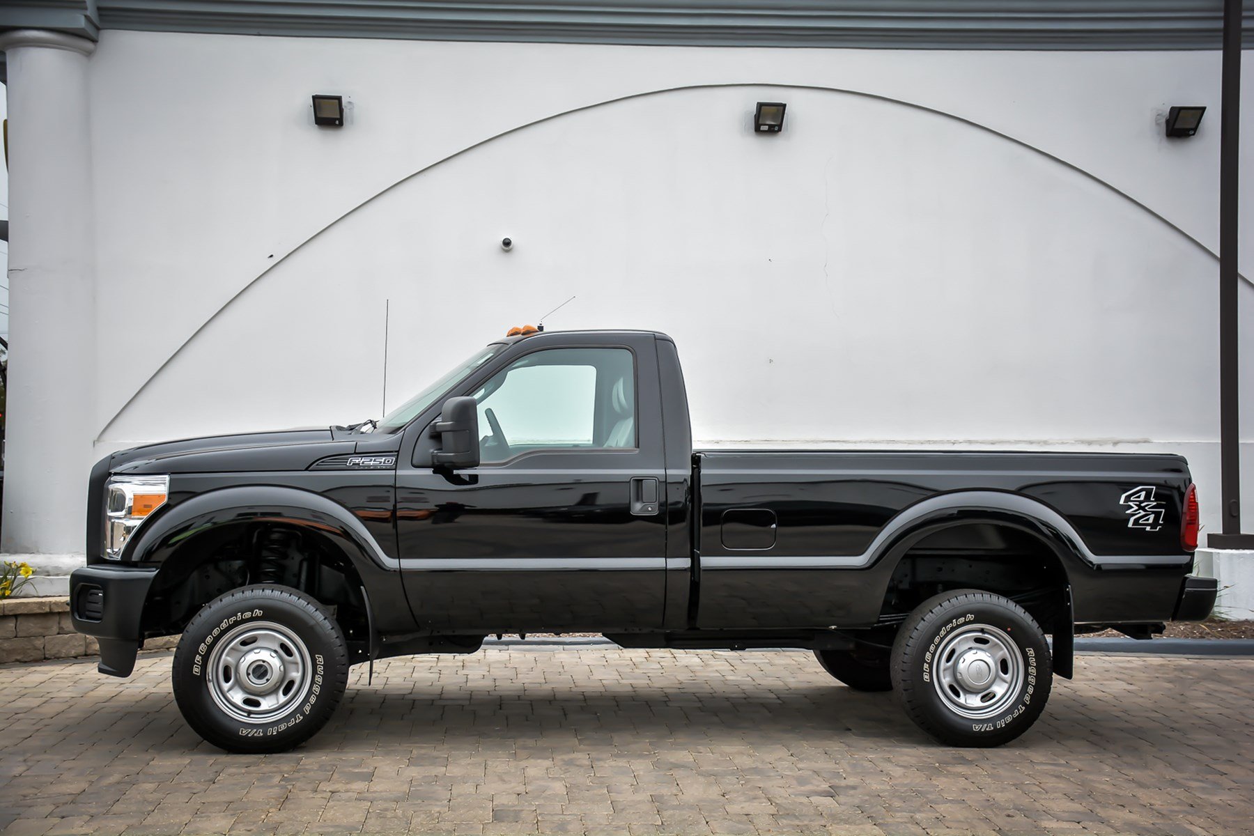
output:
[[[206,604],[183,629],[172,678],[183,718],[209,743],[283,752],[335,713],[349,654],[340,625],[305,593],[242,587]]]

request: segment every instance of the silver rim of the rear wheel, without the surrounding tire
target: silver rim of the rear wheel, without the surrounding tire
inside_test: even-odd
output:
[[[1023,686],[1023,657],[1004,632],[967,624],[949,635],[932,657],[935,686],[949,711],[971,719],[1003,712]]]

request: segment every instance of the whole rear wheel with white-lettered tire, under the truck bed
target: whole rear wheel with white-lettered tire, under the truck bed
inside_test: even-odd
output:
[[[1001,746],[1045,709],[1053,662],[1045,633],[1012,600],[973,589],[915,609],[893,643],[893,686],[919,728],[951,746]]]

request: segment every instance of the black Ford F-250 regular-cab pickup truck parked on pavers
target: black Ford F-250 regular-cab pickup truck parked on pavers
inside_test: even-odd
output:
[[[178,706],[240,752],[312,736],[351,664],[574,630],[809,648],[996,746],[1075,633],[1215,600],[1180,456],[693,451],[675,342],[640,331],[523,330],[377,424],[117,452],[88,501],[70,597],[99,669],[182,633]]]

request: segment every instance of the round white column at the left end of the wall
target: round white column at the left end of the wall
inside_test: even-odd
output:
[[[93,459],[94,224],[88,56],[60,33],[0,34],[9,68],[9,396],[4,559],[41,594],[82,563]]]

